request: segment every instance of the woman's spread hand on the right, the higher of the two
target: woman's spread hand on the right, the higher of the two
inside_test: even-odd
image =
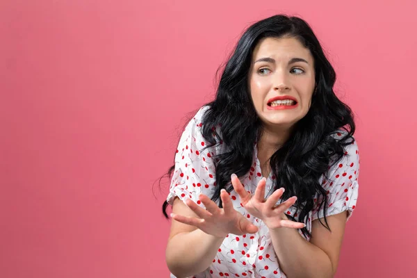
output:
[[[288,210],[297,197],[293,196],[286,200],[286,202],[276,205],[279,198],[284,193],[284,188],[275,190],[268,199],[265,199],[265,184],[266,179],[263,178],[256,186],[255,194],[248,193],[240,183],[236,174],[231,175],[231,184],[240,196],[240,203],[248,213],[256,218],[261,219],[269,229],[277,229],[281,227],[302,229],[305,227],[303,223],[288,220],[285,211]]]

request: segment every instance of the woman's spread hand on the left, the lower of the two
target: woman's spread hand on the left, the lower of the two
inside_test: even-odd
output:
[[[172,213],[171,217],[178,222],[193,225],[204,231],[206,234],[218,238],[225,238],[228,234],[255,234],[258,227],[247,220],[233,207],[230,196],[226,190],[220,191],[220,198],[223,208],[219,208],[206,195],[199,195],[199,200],[206,206],[206,209],[198,206],[191,199],[186,199],[185,204],[197,214],[199,218],[190,218]]]

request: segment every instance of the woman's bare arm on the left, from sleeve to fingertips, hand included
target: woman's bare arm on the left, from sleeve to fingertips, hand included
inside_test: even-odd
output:
[[[191,199],[186,199],[185,204],[174,200],[172,219],[177,222],[172,223],[166,257],[168,268],[181,277],[206,270],[228,234],[258,231],[258,227],[234,209],[226,190],[220,190],[223,208],[204,194],[198,198],[206,209]]]

